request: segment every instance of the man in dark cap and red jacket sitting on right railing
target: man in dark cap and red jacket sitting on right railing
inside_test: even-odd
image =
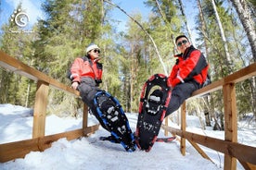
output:
[[[181,52],[176,64],[168,77],[172,87],[172,97],[166,111],[166,116],[177,110],[193,91],[202,87],[207,78],[208,67],[205,56],[188,41],[186,35],[175,39],[177,49]]]

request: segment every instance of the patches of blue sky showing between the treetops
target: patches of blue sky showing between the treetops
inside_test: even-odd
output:
[[[0,4],[0,27],[3,23],[7,22],[15,12],[15,8],[22,3],[22,10],[25,11],[29,18],[29,22],[26,22],[26,27],[23,30],[30,30],[29,28],[39,19],[44,18],[44,12],[41,9],[42,3],[45,0],[1,0]],[[133,13],[141,13],[144,20],[147,21],[147,17],[150,14],[150,8],[144,5],[143,0],[112,0],[112,3],[122,7],[129,15]],[[192,42],[198,37],[197,30],[194,29],[195,25],[195,15],[198,13],[198,8],[194,0],[183,0],[183,6],[185,7],[185,13],[188,25],[190,25],[190,30],[192,31]],[[119,8],[115,7],[111,14],[113,19],[119,20],[116,28],[118,31],[126,30],[126,23],[129,19]],[[1,33],[2,30],[0,30]],[[182,33],[182,32],[181,32]],[[195,44],[194,44],[195,45]]]

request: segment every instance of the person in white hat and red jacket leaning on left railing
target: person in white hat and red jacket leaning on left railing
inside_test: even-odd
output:
[[[98,88],[99,83],[102,82],[102,64],[98,62],[100,60],[100,49],[92,43],[88,45],[85,52],[86,55],[75,58],[70,67],[71,87],[80,91],[83,103],[89,106],[90,111],[96,116],[100,125],[108,130],[102,119],[96,114],[94,104],[96,92],[102,91]]]

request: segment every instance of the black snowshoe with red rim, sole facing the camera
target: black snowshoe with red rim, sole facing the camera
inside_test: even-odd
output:
[[[151,150],[158,138],[170,100],[171,87],[167,85],[166,76],[156,74],[146,81],[140,96],[135,131],[135,142],[140,150]]]

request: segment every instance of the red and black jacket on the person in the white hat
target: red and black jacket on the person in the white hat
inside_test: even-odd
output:
[[[102,64],[97,60],[92,61],[87,56],[76,58],[70,68],[72,82],[81,82],[82,77],[89,77],[96,80],[102,78]]]

